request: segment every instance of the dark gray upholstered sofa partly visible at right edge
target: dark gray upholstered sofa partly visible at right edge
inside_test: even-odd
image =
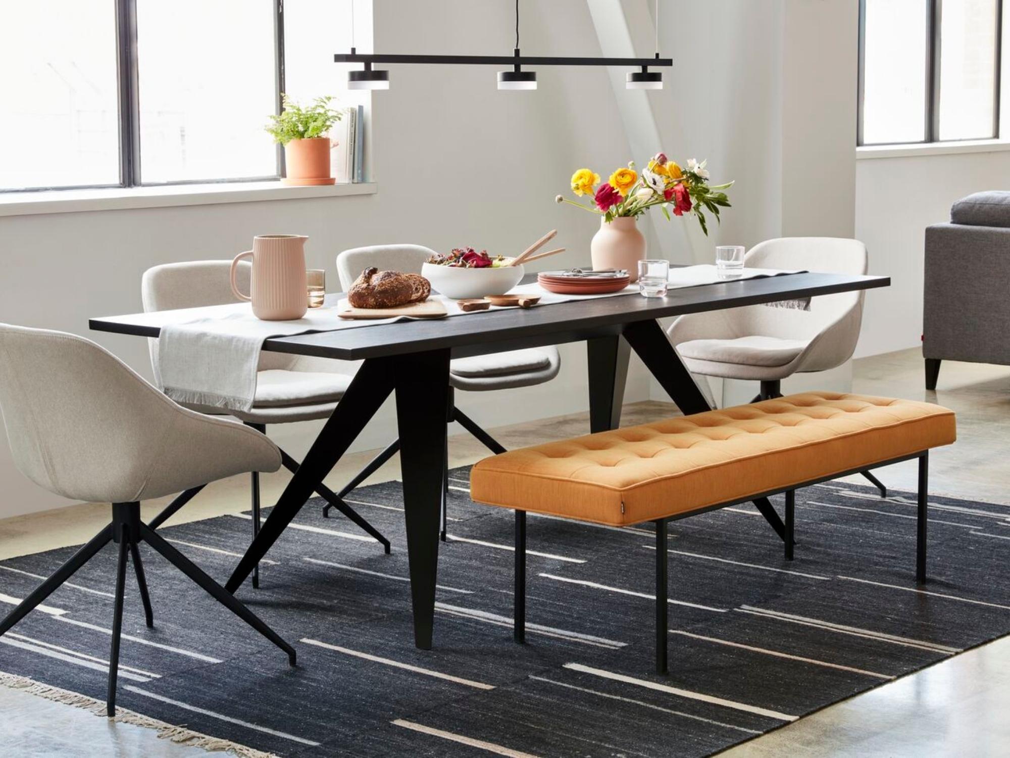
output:
[[[977,192],[926,228],[922,357],[1010,365],[1010,192]]]

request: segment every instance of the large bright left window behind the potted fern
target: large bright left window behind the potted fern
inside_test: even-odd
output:
[[[363,101],[336,91],[351,18],[351,0],[12,4],[0,192],[278,178],[282,91]]]

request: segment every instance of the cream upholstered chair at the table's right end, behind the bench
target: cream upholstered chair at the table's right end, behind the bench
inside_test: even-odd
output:
[[[866,246],[857,240],[794,236],[751,248],[745,268],[866,274]],[[756,400],[782,396],[782,380],[801,372],[827,371],[852,357],[863,322],[865,292],[841,292],[810,300],[810,309],[746,305],[675,320],[668,335],[688,370],[703,376],[760,382]],[[887,497],[871,472],[863,472]]]

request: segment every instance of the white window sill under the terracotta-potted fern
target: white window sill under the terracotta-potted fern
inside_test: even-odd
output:
[[[78,213],[90,210],[165,208],[176,205],[300,200],[312,197],[374,195],[374,183],[287,187],[279,181],[222,184],[177,184],[167,187],[115,187],[0,194],[0,216],[36,213]]]

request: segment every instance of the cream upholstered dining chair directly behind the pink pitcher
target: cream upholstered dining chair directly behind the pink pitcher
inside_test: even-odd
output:
[[[251,266],[242,262],[237,270],[238,288],[248,291]],[[230,261],[193,261],[156,266],[144,272],[140,295],[145,312],[224,305],[238,302],[231,291]],[[150,363],[156,382],[161,386],[158,340],[148,340]],[[341,371],[342,369],[342,371]],[[257,388],[252,407],[246,411],[222,410],[204,405],[187,405],[201,413],[232,415],[263,434],[268,424],[293,423],[329,418],[336,403],[350,384],[351,374],[346,364],[325,358],[285,355],[264,351],[257,372]],[[298,461],[281,450],[282,463],[294,473]],[[390,552],[390,543],[382,533],[356,511],[343,498],[324,484],[316,491],[358,527]],[[251,477],[252,538],[260,533],[260,476]],[[260,567],[252,570],[252,586],[260,586]]]

